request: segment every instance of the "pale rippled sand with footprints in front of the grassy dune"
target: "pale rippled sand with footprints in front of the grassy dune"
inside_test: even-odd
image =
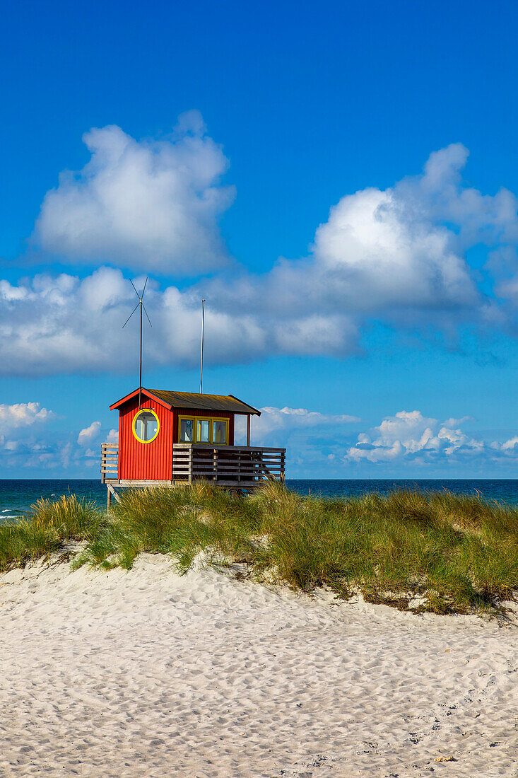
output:
[[[513,626],[150,555],[0,576],[0,625],[1,776],[518,775]]]

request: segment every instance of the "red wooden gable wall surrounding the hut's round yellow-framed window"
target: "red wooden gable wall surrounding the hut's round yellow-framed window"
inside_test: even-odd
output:
[[[152,408],[160,429],[151,443],[139,443],[131,426],[138,411],[138,394],[121,408],[119,419],[119,478],[170,481],[173,473],[174,414],[142,394],[142,408]]]

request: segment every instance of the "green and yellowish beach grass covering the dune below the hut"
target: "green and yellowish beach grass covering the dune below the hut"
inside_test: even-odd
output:
[[[295,590],[360,592],[413,612],[496,612],[518,591],[518,510],[482,496],[397,490],[300,496],[269,483],[237,497],[201,482],[128,489],[111,513],[65,496],[0,526],[0,569],[83,541],[73,560],[129,569],[142,552],[184,572],[197,555]]]

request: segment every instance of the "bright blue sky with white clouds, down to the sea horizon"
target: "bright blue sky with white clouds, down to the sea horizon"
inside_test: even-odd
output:
[[[197,391],[205,296],[205,390],[292,477],[513,477],[517,16],[5,9],[3,477],[96,477],[146,275],[144,384]]]

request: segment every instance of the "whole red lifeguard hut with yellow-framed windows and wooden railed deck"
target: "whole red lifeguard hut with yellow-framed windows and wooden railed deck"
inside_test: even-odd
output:
[[[119,440],[102,444],[108,505],[119,487],[205,479],[249,492],[265,480],[284,480],[285,449],[250,446],[250,417],[261,412],[233,394],[139,387],[110,410],[119,412]],[[234,445],[236,415],[247,419],[246,446]]]

